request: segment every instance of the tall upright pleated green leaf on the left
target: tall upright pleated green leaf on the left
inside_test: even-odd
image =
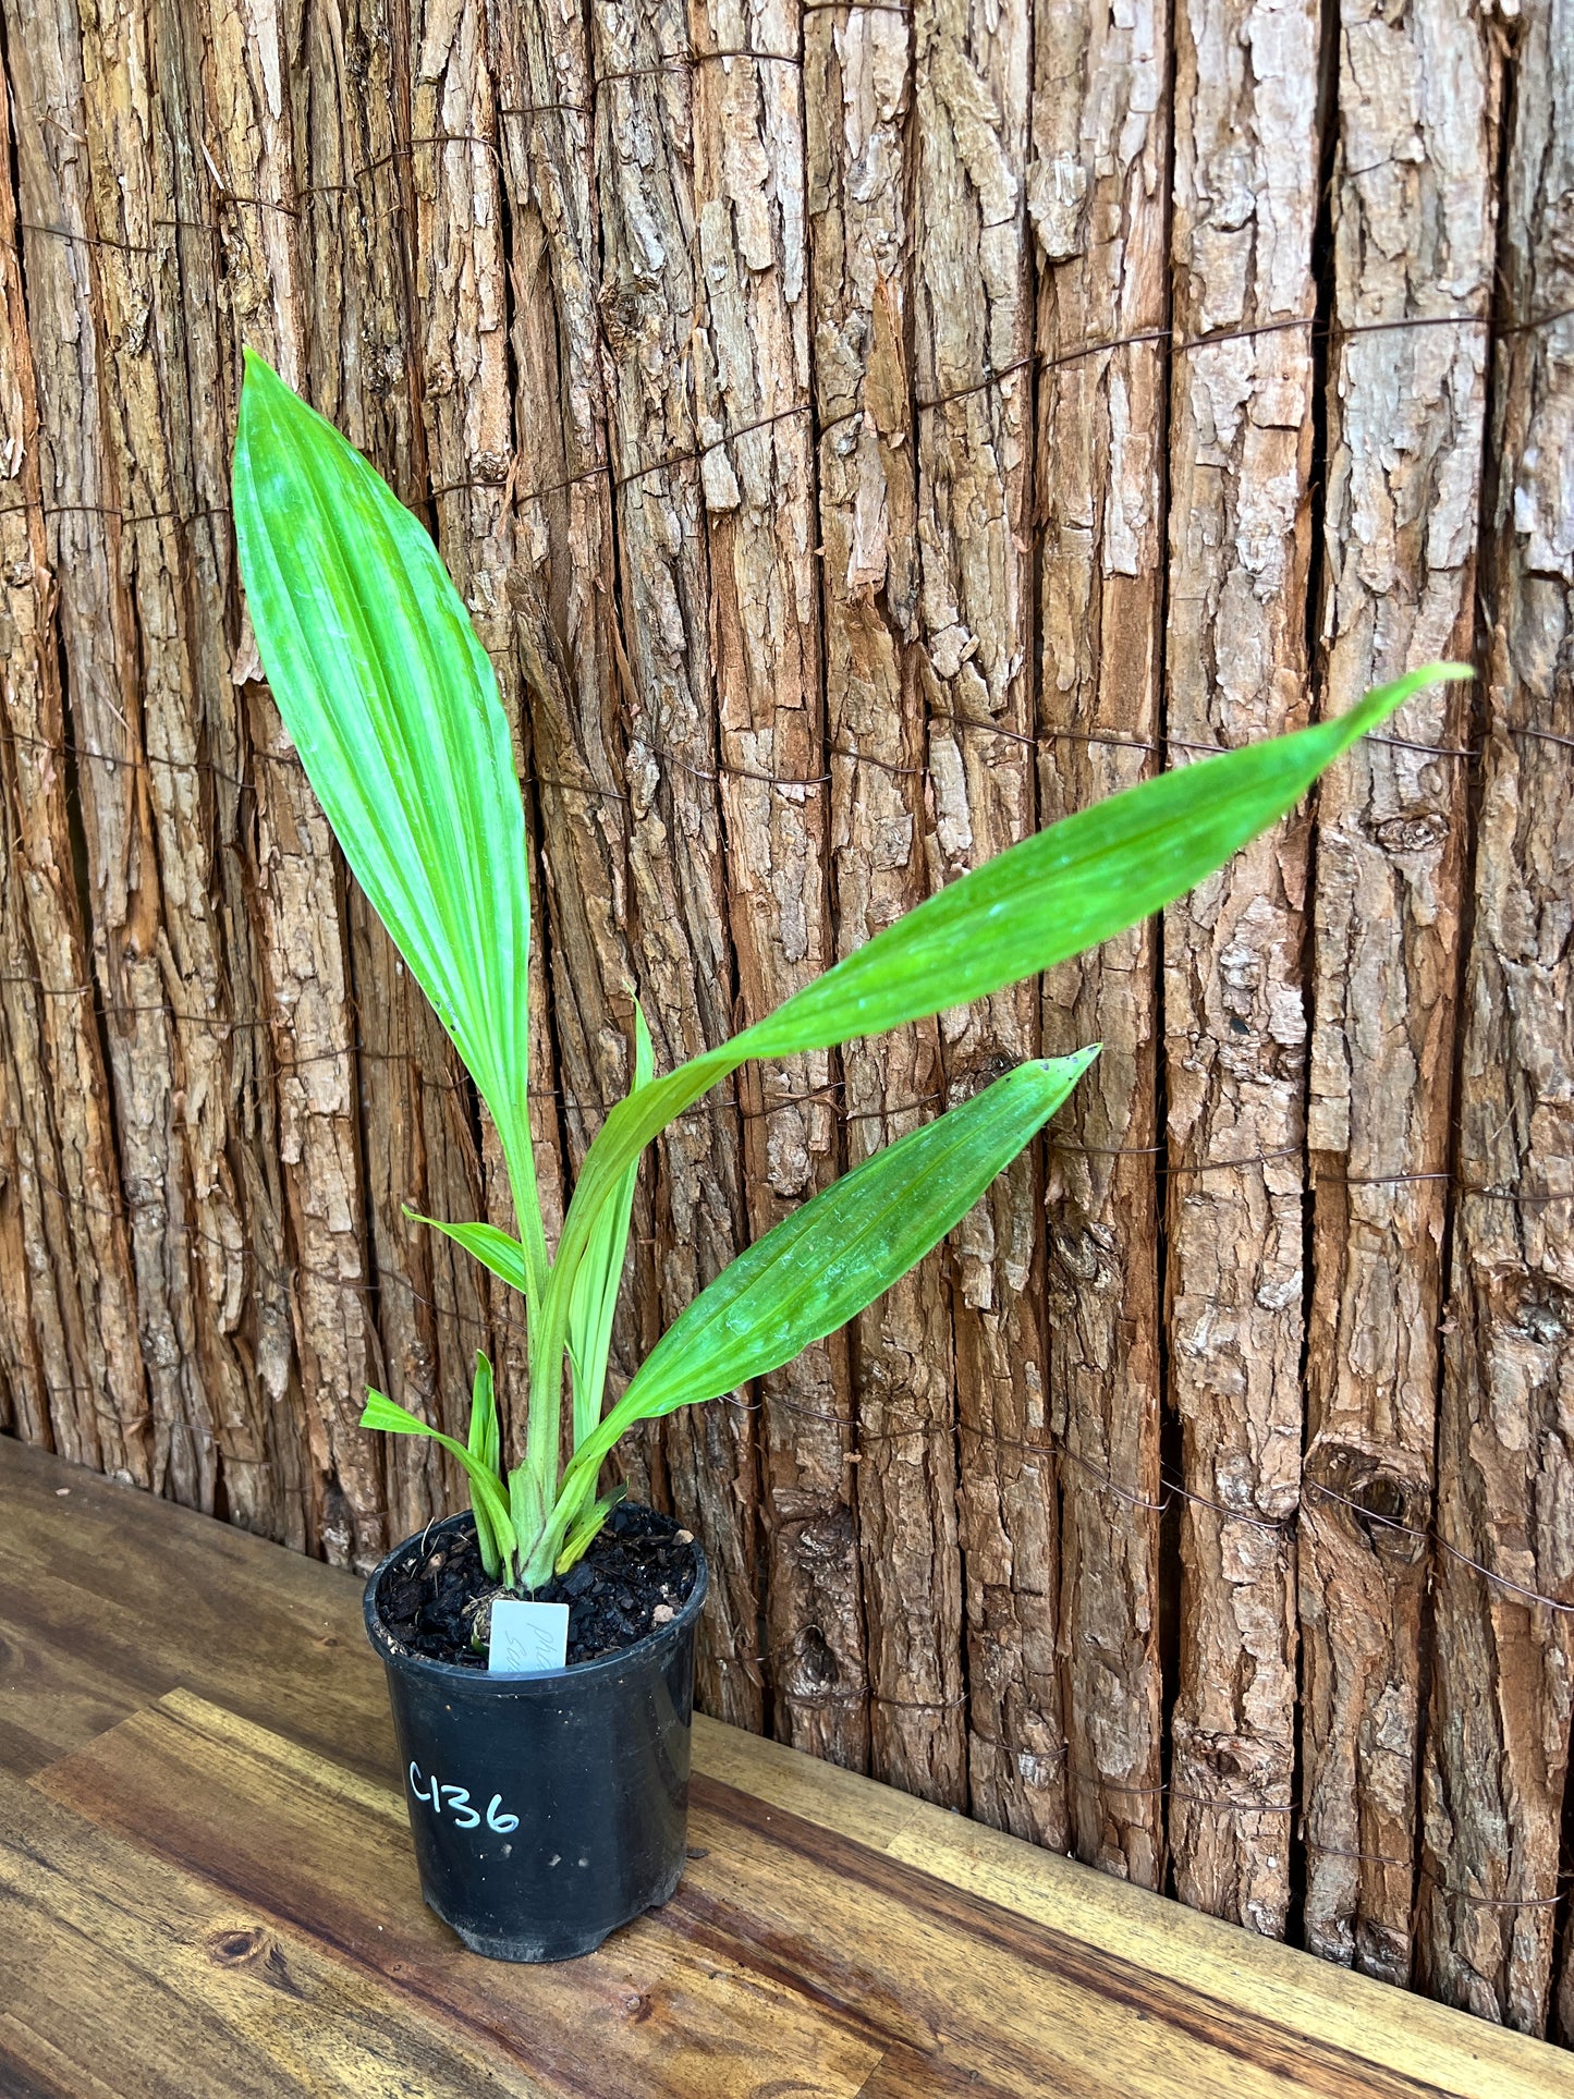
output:
[[[529,1133],[531,905],[491,663],[428,533],[252,351],[235,533],[306,779],[497,1125],[535,1312],[548,1264]]]

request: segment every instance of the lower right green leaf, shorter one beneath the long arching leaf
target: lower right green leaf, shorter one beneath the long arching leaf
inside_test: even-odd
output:
[[[1018,1064],[974,1100],[875,1152],[724,1268],[579,1446],[548,1539],[573,1522],[600,1461],[636,1421],[779,1371],[921,1261],[1049,1121],[1096,1056],[1098,1045]],[[537,1547],[527,1581],[539,1555]]]

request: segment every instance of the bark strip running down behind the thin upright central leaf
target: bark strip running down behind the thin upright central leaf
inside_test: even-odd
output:
[[[525,676],[562,1125],[577,1165],[628,1091],[630,867],[613,558],[613,489],[600,361],[590,59],[577,6],[497,23],[499,126],[514,342],[514,567],[508,592]],[[613,1335],[621,1383],[659,1331],[646,1173]],[[659,1429],[636,1444],[634,1490],[661,1494]]]

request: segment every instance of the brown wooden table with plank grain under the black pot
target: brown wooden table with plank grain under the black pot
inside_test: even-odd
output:
[[[0,1438],[0,2093],[1574,2093],[1540,2042],[701,1721],[674,1902],[422,1908],[361,1585]]]

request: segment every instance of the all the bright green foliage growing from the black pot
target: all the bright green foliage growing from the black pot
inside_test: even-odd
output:
[[[437,1230],[525,1293],[525,1463],[504,1480],[485,1358],[468,1446],[382,1394],[369,1394],[363,1423],[437,1436],[470,1480],[487,1568],[525,1589],[569,1568],[594,1539],[619,1499],[596,1499],[596,1473],[628,1427],[779,1369],[869,1306],[965,1215],[1096,1050],[1018,1066],[814,1196],[701,1291],[602,1419],[634,1182],[651,1138],[747,1058],[829,1050],[963,1005],[1163,909],[1291,810],[1326,764],[1412,693],[1469,676],[1456,663],[1410,672],[1339,720],[1177,766],[1066,817],[661,1079],[636,1003],[634,1083],[586,1154],[548,1261],[527,1119],[525,823],[491,665],[420,525],[250,355],[235,521],[279,712],[350,869],[481,1087],[520,1222],[518,1238],[487,1224]]]

